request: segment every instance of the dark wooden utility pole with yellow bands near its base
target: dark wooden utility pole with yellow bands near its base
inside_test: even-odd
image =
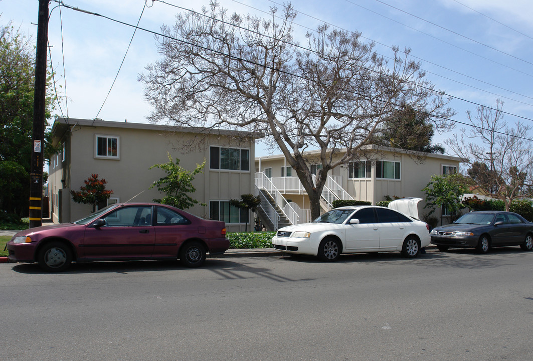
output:
[[[48,43],[49,0],[39,0],[37,49],[35,53],[35,90],[33,118],[33,151],[30,167],[30,228],[43,224],[43,154],[46,96],[46,46]]]

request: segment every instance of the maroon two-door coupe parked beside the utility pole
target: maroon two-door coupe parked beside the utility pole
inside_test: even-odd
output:
[[[222,221],[205,220],[155,203],[110,205],[73,223],[30,228],[7,243],[10,262],[38,262],[46,271],[72,261],[165,260],[199,267],[228,250]]]

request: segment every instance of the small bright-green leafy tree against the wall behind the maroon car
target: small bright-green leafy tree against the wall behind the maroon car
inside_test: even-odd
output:
[[[150,186],[150,189],[157,187],[159,192],[166,194],[163,198],[154,199],[154,202],[168,204],[182,210],[190,208],[195,204],[205,206],[205,203],[200,203],[188,195],[188,193],[196,192],[192,181],[195,179],[196,174],[204,172],[205,159],[204,163],[197,164],[196,169],[193,171],[187,171],[179,164],[180,159],[176,158],[176,162],[174,163],[172,156],[168,154],[168,163],[156,164],[150,167],[150,169],[160,168],[167,173],[166,177],[155,181]]]

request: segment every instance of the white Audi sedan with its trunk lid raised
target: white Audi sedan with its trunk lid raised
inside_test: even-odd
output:
[[[414,209],[417,216],[418,199],[422,200],[399,199],[393,201],[397,202],[393,207]],[[398,203],[404,200],[403,204]],[[335,261],[341,253],[390,251],[399,251],[403,256],[413,258],[421,248],[430,244],[430,228],[413,214],[408,216],[391,208],[391,205],[389,208],[335,208],[311,223],[280,228],[272,238],[272,244],[284,253],[316,255],[324,261]]]

